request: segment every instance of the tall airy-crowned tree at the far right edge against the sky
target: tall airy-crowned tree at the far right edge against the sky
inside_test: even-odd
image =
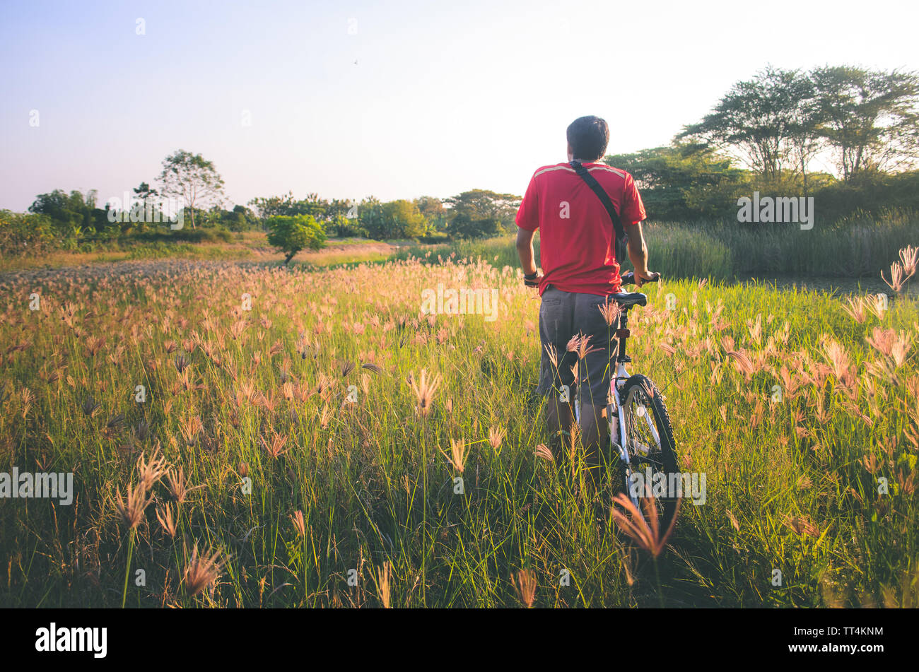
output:
[[[844,179],[906,167],[919,156],[919,75],[827,66],[811,78],[820,133],[836,151]]]

